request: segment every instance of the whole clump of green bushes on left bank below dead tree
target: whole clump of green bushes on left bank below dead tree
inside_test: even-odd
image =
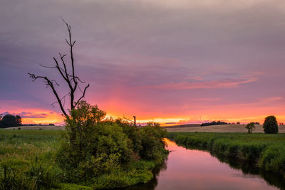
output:
[[[93,188],[127,186],[152,177],[136,178],[138,171],[149,174],[150,170],[130,169],[132,164],[140,159],[157,163],[165,159],[162,138],[166,131],[155,123],[139,129],[120,119],[103,120],[105,112],[85,101],[71,110],[70,115],[57,153],[57,162],[67,182],[96,184]]]

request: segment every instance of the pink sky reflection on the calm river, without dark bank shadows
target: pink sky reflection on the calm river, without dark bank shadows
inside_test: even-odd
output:
[[[243,174],[208,152],[185,149],[169,140],[167,144],[172,152],[155,189],[276,189],[261,176]]]

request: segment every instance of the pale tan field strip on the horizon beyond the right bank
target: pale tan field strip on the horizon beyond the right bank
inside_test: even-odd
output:
[[[170,127],[167,132],[247,132],[246,125],[212,125],[204,127]],[[262,125],[255,125],[254,133],[263,132]],[[285,125],[279,125],[279,133],[285,133]]]

